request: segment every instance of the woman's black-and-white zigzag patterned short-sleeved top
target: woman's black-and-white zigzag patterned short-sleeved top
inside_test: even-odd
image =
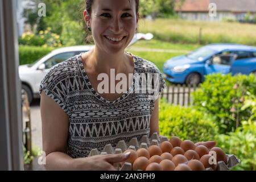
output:
[[[115,147],[120,140],[149,137],[155,99],[149,97],[151,93],[134,92],[138,88],[135,82],[138,75],[157,74],[156,89],[162,92],[165,82],[159,69],[150,61],[132,55],[133,84],[117,100],[108,101],[90,84],[81,55],[55,65],[40,85],[40,94],[44,90],[68,115],[67,154],[72,158],[86,157],[93,148],[103,150],[106,144]]]

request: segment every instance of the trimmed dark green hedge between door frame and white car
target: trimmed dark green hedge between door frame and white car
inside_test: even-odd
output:
[[[31,64],[51,52],[53,48],[19,46],[19,64]]]

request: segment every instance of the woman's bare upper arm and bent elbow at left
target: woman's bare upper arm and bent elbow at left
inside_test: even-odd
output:
[[[44,92],[40,101],[43,151],[46,169],[69,169],[73,159],[65,154],[68,140],[68,115]]]

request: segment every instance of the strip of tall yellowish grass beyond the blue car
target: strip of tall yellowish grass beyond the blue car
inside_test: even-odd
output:
[[[239,43],[256,46],[256,24],[236,22],[196,22],[182,19],[141,19],[139,32],[154,34],[165,42],[197,44],[202,28],[201,43]]]

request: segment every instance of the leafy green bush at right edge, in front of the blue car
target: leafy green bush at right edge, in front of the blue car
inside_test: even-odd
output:
[[[235,131],[240,121],[250,118],[251,111],[241,109],[248,93],[256,94],[256,77],[253,74],[212,74],[206,76],[200,88],[192,93],[193,105],[197,110],[212,115],[220,133],[225,134]]]

